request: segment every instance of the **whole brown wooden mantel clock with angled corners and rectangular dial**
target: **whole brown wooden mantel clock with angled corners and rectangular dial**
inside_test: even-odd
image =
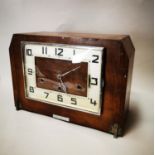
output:
[[[127,35],[14,34],[15,106],[122,135],[134,47]]]

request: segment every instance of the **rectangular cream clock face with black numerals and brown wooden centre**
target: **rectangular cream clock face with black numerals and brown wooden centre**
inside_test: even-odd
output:
[[[99,115],[103,47],[22,42],[25,97]]]

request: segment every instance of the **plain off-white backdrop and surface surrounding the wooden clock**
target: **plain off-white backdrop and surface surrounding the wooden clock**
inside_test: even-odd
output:
[[[16,111],[9,44],[13,33],[130,34],[135,63],[122,138]],[[153,154],[153,0],[0,0],[0,155]]]

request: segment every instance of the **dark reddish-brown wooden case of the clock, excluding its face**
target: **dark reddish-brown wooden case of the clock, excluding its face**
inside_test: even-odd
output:
[[[103,76],[104,90],[101,115],[75,111],[25,98],[21,41],[100,46],[105,48]],[[123,134],[129,107],[134,47],[128,35],[97,35],[80,33],[14,34],[10,45],[10,60],[16,109],[48,116],[68,117],[71,123],[112,133]]]

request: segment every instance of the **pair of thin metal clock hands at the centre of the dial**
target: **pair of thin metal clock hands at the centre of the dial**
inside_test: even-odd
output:
[[[58,74],[58,75],[57,75],[57,79],[60,80],[61,88],[62,88],[62,90],[63,90],[65,93],[67,93],[67,89],[66,89],[65,84],[64,84],[63,81],[62,81],[62,77],[66,76],[67,74],[69,74],[69,73],[71,73],[71,72],[76,71],[76,70],[79,69],[79,68],[80,68],[80,66],[78,66],[78,67],[76,67],[76,68],[73,68],[73,69],[71,69],[71,70],[69,70],[69,71],[67,71],[67,72],[65,72],[65,73],[63,73],[63,74]]]

